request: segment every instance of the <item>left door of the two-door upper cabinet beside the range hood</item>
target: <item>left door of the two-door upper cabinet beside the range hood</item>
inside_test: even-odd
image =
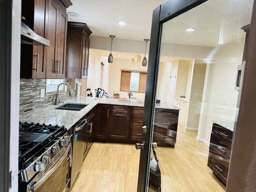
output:
[[[48,40],[50,46],[47,48],[46,78],[56,79],[59,60],[58,55],[58,30],[59,30],[59,5],[57,0],[49,2],[48,16]]]

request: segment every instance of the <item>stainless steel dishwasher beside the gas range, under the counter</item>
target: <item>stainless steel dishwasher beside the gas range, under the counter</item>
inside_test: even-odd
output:
[[[85,142],[85,131],[86,131],[87,119],[86,117],[81,118],[73,128],[73,151],[72,151],[72,167],[71,167],[71,181],[70,187],[74,184],[78,173],[83,165],[83,151]]]

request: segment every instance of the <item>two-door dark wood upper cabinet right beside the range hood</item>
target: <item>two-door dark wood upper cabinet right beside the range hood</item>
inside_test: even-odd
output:
[[[49,0],[47,35],[50,46],[47,48],[46,78],[65,78],[67,13],[60,0]]]

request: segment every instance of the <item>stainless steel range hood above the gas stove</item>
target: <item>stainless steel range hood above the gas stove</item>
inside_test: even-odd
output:
[[[21,22],[21,43],[31,45],[50,46],[50,41],[37,35],[33,30]]]

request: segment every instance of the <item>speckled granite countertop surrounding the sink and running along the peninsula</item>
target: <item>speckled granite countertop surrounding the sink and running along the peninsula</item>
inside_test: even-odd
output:
[[[70,110],[59,110],[55,109],[60,105],[65,103],[79,103],[79,104],[88,104],[81,111],[70,111]],[[24,114],[20,116],[21,122],[34,122],[43,124],[52,124],[52,125],[63,125],[67,129],[70,129],[80,118],[87,114],[93,107],[98,103],[109,104],[109,105],[128,105],[134,107],[144,107],[144,101],[132,101],[124,99],[113,99],[113,98],[93,98],[93,97],[73,97],[68,100],[65,100],[64,103],[59,105],[50,105],[38,111],[32,113]],[[156,108],[161,109],[175,109],[180,110],[178,107],[175,107],[172,104],[167,103],[156,103]]]

